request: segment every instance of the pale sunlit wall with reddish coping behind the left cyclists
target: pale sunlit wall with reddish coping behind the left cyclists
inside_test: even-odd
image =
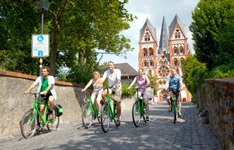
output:
[[[33,96],[23,92],[34,82],[36,76],[0,70],[0,138],[20,135],[20,120],[32,107]],[[56,92],[59,103],[63,106],[61,124],[81,123],[82,99],[89,97],[90,91],[81,92],[82,86],[56,80]],[[34,88],[32,92],[36,92]],[[134,98],[125,98],[122,109],[131,109]]]

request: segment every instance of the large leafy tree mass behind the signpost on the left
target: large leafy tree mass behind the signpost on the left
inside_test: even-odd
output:
[[[134,19],[125,9],[126,3],[128,0],[52,0],[44,20],[44,34],[50,35],[51,43],[50,58],[44,59],[44,64],[50,65],[51,74],[55,75],[63,67],[73,69],[85,60],[93,60],[96,49],[115,54],[133,50],[130,40],[120,35]],[[0,60],[1,64],[23,73],[35,70],[37,62],[31,58],[30,40],[31,34],[40,33],[41,27],[41,12],[36,9],[35,1],[9,3],[3,0],[0,9],[0,55],[8,55]],[[8,60],[14,63],[6,63]],[[38,74],[37,70],[31,74]]]

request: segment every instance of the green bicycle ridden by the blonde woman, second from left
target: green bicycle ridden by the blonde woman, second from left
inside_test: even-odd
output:
[[[98,117],[98,109],[94,107],[91,96],[89,99],[85,96],[84,102],[85,104],[82,107],[82,124],[88,129],[92,125],[93,120]],[[100,123],[100,118],[98,118],[98,122]]]

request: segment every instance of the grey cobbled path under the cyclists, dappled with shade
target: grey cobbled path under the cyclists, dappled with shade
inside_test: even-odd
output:
[[[100,124],[90,129],[81,124],[61,125],[58,131],[37,135],[31,139],[21,136],[1,139],[1,150],[60,149],[60,150],[220,150],[218,140],[209,125],[200,125],[198,110],[192,103],[183,103],[183,119],[173,124],[172,114],[166,103],[150,105],[150,121],[136,128],[132,123],[131,110],[122,114],[119,128],[111,123],[108,133]]]

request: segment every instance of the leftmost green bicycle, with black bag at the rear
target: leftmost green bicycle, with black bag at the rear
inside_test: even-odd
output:
[[[54,115],[53,119],[51,120],[48,119],[48,109],[49,109],[48,103],[39,102],[37,100],[37,95],[39,95],[39,93],[28,93],[28,94],[34,95],[34,101],[33,101],[33,107],[23,115],[22,120],[20,122],[20,129],[22,136],[25,139],[27,139],[35,135],[36,127],[39,124],[39,118],[41,120],[41,125],[43,127],[46,126],[49,132],[51,132],[52,130],[57,130],[60,118]],[[38,105],[45,105],[44,116],[40,113]]]

